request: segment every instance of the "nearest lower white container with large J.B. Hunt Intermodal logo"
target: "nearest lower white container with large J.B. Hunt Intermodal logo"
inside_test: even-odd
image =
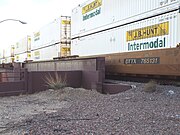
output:
[[[180,43],[180,13],[173,11],[72,40],[71,54],[91,56],[174,48]]]

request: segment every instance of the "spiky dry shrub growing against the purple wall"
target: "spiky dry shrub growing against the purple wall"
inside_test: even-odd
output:
[[[66,75],[62,78],[57,72],[55,72],[54,77],[49,74],[45,76],[45,83],[49,89],[62,89],[67,86]]]

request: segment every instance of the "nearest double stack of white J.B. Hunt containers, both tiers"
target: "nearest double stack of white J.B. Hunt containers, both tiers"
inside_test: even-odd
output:
[[[89,0],[72,11],[71,54],[88,56],[176,47],[179,0]]]

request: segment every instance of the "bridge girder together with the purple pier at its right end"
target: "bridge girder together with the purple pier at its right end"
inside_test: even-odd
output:
[[[105,80],[104,57],[32,62],[23,64],[23,67],[27,68],[29,74],[32,73],[32,75],[42,71],[81,71],[81,79],[78,77],[81,80],[80,87],[96,89],[99,92],[102,92],[102,84]]]

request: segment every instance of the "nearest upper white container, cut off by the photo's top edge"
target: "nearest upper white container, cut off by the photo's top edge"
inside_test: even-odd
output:
[[[88,0],[72,10],[71,38],[178,9],[180,0]]]

